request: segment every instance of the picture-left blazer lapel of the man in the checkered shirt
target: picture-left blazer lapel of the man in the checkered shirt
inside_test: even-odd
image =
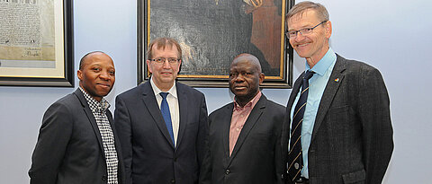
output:
[[[88,121],[90,122],[90,124],[93,127],[94,135],[96,136],[97,143],[99,144],[99,147],[101,148],[103,159],[106,159],[105,153],[103,150],[101,132],[99,131],[99,127],[97,127],[96,119],[93,116],[93,112],[92,112],[92,110],[90,110],[90,107],[88,106],[88,103],[84,98],[83,92],[81,92],[81,90],[79,90],[79,89],[76,89],[76,91],[74,93],[76,94],[76,97],[78,97],[78,100],[81,102],[81,105],[83,107],[85,115],[87,116]]]

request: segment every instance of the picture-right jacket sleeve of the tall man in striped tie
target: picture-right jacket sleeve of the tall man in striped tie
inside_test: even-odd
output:
[[[378,184],[383,180],[394,146],[390,100],[380,72],[375,68],[362,72],[358,112],[363,125],[365,183]]]

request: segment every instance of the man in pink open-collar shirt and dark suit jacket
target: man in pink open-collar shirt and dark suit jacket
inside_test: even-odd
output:
[[[229,69],[234,102],[210,115],[208,183],[270,184],[281,181],[284,106],[259,91],[265,74],[257,57],[240,54]]]

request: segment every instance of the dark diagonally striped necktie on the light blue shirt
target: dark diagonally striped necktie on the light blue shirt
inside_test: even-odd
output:
[[[300,172],[303,168],[302,157],[302,121],[306,102],[308,101],[309,79],[315,74],[312,71],[307,71],[303,76],[302,93],[300,93],[299,101],[295,105],[293,121],[291,124],[290,152],[288,153],[288,174],[291,180],[298,180],[301,176]]]

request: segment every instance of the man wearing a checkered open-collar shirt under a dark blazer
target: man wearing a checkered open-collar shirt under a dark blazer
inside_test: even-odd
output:
[[[77,76],[79,89],[43,116],[31,157],[32,184],[124,183],[121,146],[103,99],[115,82],[112,58],[100,51],[86,54]]]

